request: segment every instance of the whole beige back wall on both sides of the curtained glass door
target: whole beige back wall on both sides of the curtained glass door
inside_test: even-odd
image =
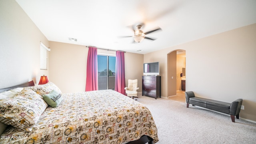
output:
[[[52,41],[50,41],[50,48],[48,79],[56,84],[63,93],[84,92],[88,48],[76,44]],[[98,53],[116,54],[114,51],[100,49],[98,49]],[[124,57],[126,86],[128,79],[138,79],[138,86],[142,86],[143,55],[126,52]]]

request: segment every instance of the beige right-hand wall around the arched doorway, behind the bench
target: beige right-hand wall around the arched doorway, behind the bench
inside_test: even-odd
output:
[[[243,99],[242,118],[256,121],[256,24],[144,55],[160,61],[162,96],[167,97],[167,54],[186,50],[186,91],[224,102]]]

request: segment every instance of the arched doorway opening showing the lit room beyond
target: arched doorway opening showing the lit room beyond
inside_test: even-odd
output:
[[[186,73],[184,73],[184,70],[186,69],[186,50],[174,50],[168,53],[167,57],[167,94],[169,97],[176,96],[177,91],[182,91],[182,80],[186,78]]]

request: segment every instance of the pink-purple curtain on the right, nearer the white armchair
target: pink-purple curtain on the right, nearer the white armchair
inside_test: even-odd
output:
[[[115,90],[125,94],[124,52],[116,51],[116,83]]]

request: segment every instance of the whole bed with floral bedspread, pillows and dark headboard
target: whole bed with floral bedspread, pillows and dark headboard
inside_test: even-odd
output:
[[[52,82],[34,86],[31,81],[0,94],[17,88],[17,95],[0,99],[0,144],[158,142],[150,110],[114,90],[62,94]],[[60,102],[52,105],[45,96]]]

